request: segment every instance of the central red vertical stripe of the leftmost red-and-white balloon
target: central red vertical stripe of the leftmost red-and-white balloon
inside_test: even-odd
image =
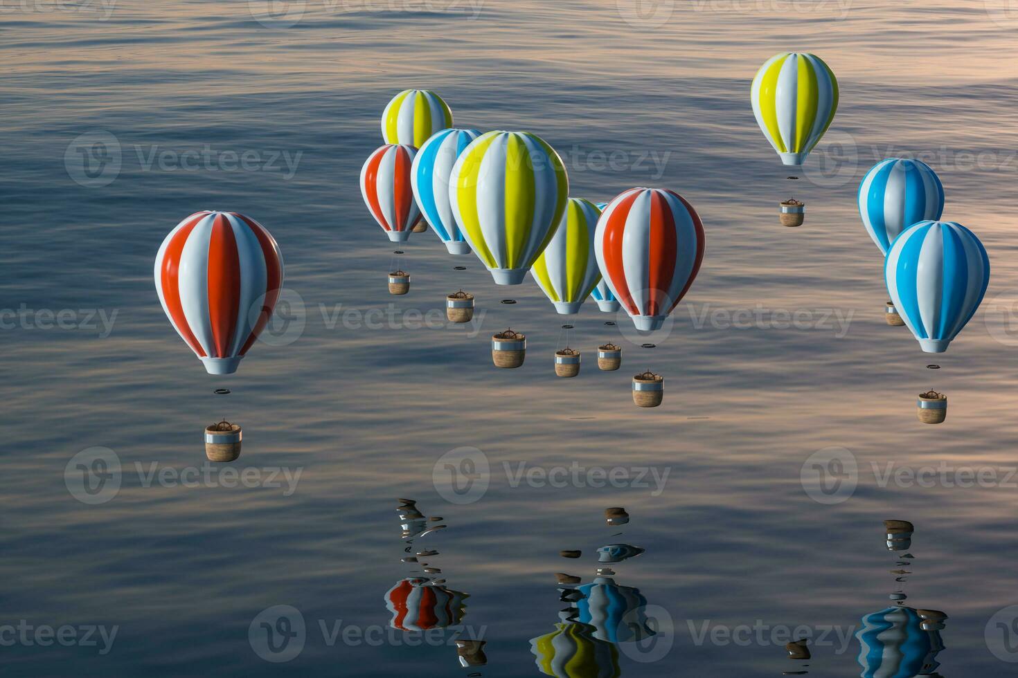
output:
[[[229,358],[237,330],[240,306],[240,255],[233,228],[224,214],[217,214],[209,239],[209,322],[212,325],[214,358]]]

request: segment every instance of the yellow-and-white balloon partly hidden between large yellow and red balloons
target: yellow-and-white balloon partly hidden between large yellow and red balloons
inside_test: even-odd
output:
[[[592,202],[569,198],[552,241],[530,268],[538,286],[563,315],[579,313],[601,280],[593,253],[599,219],[601,210]]]

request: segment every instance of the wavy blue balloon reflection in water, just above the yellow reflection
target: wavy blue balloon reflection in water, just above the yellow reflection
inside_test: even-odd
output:
[[[646,623],[646,599],[639,589],[623,587],[610,576],[576,587],[577,621],[595,627],[593,637],[609,642],[642,640],[655,634]]]

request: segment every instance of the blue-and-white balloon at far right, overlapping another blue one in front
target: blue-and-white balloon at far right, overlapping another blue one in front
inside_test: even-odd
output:
[[[926,353],[944,353],[986,293],[989,258],[954,222],[919,222],[891,245],[884,262],[891,301]]]

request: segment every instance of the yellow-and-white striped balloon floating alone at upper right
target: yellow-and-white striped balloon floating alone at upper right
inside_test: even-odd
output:
[[[750,98],[756,124],[781,162],[800,166],[834,120],[838,80],[819,57],[785,52],[756,71]]]

